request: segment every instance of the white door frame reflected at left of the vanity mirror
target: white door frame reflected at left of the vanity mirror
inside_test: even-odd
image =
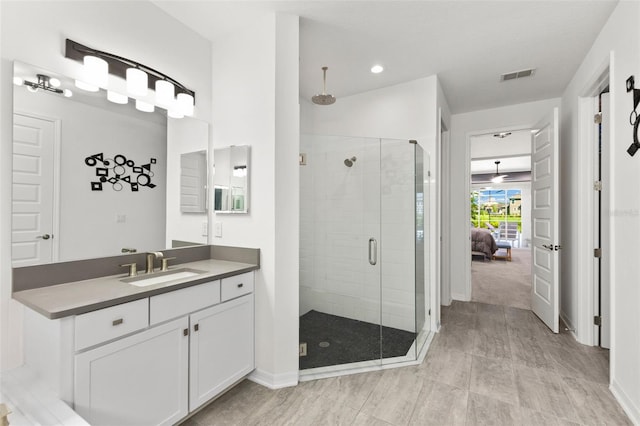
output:
[[[51,240],[51,258],[53,262],[58,262],[60,260],[60,149],[61,149],[61,119],[56,117],[47,117],[45,115],[36,114],[33,112],[27,112],[22,110],[16,110],[11,115],[11,123],[13,124],[13,115],[24,115],[26,117],[36,118],[38,120],[49,121],[53,123],[53,205],[51,208],[52,212],[52,234],[53,239]],[[13,155],[13,127],[11,134],[11,153]],[[13,175],[12,175],[13,179]],[[12,195],[13,199],[13,195]]]

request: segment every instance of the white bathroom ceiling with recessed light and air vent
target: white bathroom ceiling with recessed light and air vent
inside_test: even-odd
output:
[[[338,102],[437,74],[456,114],[561,96],[617,0],[153,3],[210,40],[273,11],[298,15],[304,98],[322,91],[325,65]],[[527,68],[533,77],[499,82]]]

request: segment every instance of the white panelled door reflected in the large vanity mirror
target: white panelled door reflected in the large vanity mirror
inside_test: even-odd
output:
[[[55,261],[56,123],[13,115],[13,266]]]

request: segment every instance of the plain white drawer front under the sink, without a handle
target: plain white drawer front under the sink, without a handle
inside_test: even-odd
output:
[[[149,322],[151,325],[158,324],[220,303],[220,280],[159,294],[149,299]]]

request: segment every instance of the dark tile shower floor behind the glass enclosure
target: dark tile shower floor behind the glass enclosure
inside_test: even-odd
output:
[[[318,311],[300,317],[300,343],[307,344],[307,356],[300,357],[300,369],[404,356],[415,333],[378,324],[352,320]],[[326,343],[329,345],[327,346]]]

